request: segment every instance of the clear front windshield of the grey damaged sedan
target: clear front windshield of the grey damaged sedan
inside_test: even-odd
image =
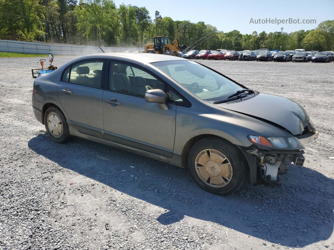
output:
[[[152,63],[152,65],[202,100],[219,101],[243,89],[231,80],[196,62],[165,61]]]

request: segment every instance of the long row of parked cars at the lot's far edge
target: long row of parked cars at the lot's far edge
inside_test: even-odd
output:
[[[305,49],[278,51],[269,49],[258,50],[190,50],[183,54],[186,59],[214,59],[214,60],[244,60],[244,61],[274,61],[274,62],[329,62],[334,60],[333,51],[305,51]]]

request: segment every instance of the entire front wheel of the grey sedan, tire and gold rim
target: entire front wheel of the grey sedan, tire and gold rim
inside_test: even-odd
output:
[[[231,194],[242,186],[245,165],[235,145],[214,137],[196,142],[188,156],[188,168],[195,182],[204,190],[219,195]]]

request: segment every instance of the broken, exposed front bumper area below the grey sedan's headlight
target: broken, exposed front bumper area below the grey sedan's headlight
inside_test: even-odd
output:
[[[318,135],[319,132],[313,130],[297,138],[305,145],[317,139]],[[258,145],[240,149],[247,160],[253,185],[281,185],[278,175],[287,173],[289,163],[302,167],[305,161],[302,149],[271,150]]]

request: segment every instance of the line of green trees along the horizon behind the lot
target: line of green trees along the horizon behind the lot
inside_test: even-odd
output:
[[[190,46],[207,35],[196,49],[334,50],[334,20],[316,29],[292,33],[265,31],[241,34],[218,31],[204,22],[174,21],[145,7],[113,0],[0,0],[0,37],[20,36],[24,41],[44,41],[98,46],[138,46],[151,43],[153,36],[175,37]]]

